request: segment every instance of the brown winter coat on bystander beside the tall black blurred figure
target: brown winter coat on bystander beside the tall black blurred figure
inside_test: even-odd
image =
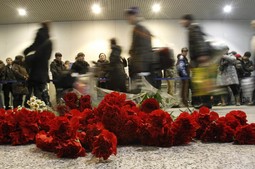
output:
[[[12,91],[14,95],[25,95],[28,94],[28,88],[26,86],[26,80],[28,79],[28,73],[24,65],[13,62],[12,70],[14,72],[16,81],[12,85]]]

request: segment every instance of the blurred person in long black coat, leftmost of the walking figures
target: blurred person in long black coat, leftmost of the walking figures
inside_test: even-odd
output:
[[[28,87],[30,94],[50,104],[47,83],[49,82],[49,60],[52,52],[52,42],[49,35],[50,22],[42,22],[41,28],[37,31],[34,43],[24,50],[25,62],[27,65],[29,79]],[[28,55],[30,52],[34,54]]]

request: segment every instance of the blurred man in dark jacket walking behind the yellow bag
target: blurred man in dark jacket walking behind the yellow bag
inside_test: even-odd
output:
[[[190,51],[190,66],[191,68],[209,66],[209,46],[205,42],[204,33],[200,26],[193,22],[193,16],[186,14],[181,18],[180,24],[188,30],[188,42]],[[193,77],[194,75],[193,75]],[[192,86],[191,86],[192,87]],[[194,86],[192,87],[194,89]],[[193,91],[194,94],[194,91]],[[210,96],[192,96],[192,104],[195,108],[206,106],[212,107]]]

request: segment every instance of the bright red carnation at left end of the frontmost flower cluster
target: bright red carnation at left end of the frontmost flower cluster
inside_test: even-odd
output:
[[[57,146],[57,143],[53,141],[53,137],[47,135],[45,131],[37,133],[35,144],[43,151],[49,152],[54,152]]]

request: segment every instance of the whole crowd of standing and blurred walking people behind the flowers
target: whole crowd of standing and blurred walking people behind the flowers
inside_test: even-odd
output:
[[[247,51],[243,55],[235,51],[229,52],[225,48],[219,61],[212,64],[211,46],[206,42],[206,34],[199,24],[194,22],[192,15],[187,14],[181,18],[180,24],[188,30],[188,47],[183,47],[176,57],[176,66],[160,69],[157,53],[152,48],[153,35],[140,24],[138,7],[131,7],[125,11],[128,23],[133,25],[132,44],[129,50],[130,57],[126,60],[121,56],[122,49],[115,38],[110,39],[111,53],[109,61],[105,53],[100,53],[98,61],[93,62],[97,86],[100,88],[139,93],[142,89],[142,77],[153,87],[160,89],[160,78],[166,78],[167,93],[175,95],[176,77],[181,83],[179,106],[194,107],[231,104],[231,96],[235,105],[252,105],[254,99],[254,71],[252,54]],[[90,64],[85,61],[85,54],[79,52],[75,62],[62,61],[62,54],[55,53],[55,59],[49,63],[52,54],[52,41],[50,40],[50,22],[41,23],[34,42],[18,55],[15,60],[6,58],[6,64],[0,61],[0,77],[4,102],[0,107],[10,109],[10,99],[13,98],[13,107],[24,103],[32,96],[43,100],[51,106],[47,84],[52,82],[56,90],[56,102],[61,101],[63,91],[73,87],[75,78],[73,74],[86,74]],[[212,68],[212,65],[216,69]],[[128,67],[128,73],[125,71]],[[209,71],[212,70],[212,71]],[[177,74],[177,76],[176,76]],[[198,80],[199,79],[199,80]],[[222,89],[213,94],[209,91],[214,79],[214,89]],[[131,81],[131,85],[129,84]],[[198,85],[199,81],[200,85]],[[202,84],[202,85],[201,85]],[[215,87],[216,86],[216,87]],[[128,88],[129,87],[129,88]],[[199,92],[197,91],[199,90]],[[212,88],[210,88],[212,90]],[[190,95],[191,94],[191,95]],[[12,96],[10,98],[10,96]],[[191,98],[191,99],[190,99]],[[233,100],[233,99],[232,99]],[[191,101],[191,103],[190,103]]]

